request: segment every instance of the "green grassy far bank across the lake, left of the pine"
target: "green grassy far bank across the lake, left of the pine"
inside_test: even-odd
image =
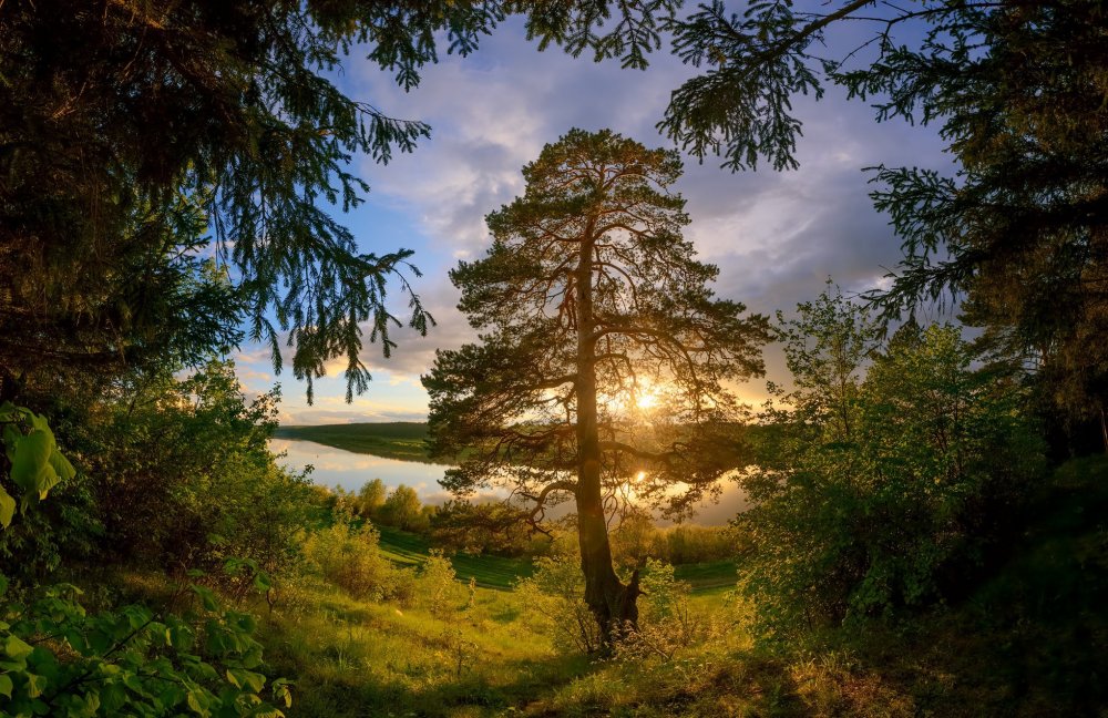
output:
[[[353,453],[373,454],[400,461],[443,463],[432,460],[427,450],[427,423],[397,421],[392,423],[349,423],[319,427],[278,427],[276,439],[314,441]]]

